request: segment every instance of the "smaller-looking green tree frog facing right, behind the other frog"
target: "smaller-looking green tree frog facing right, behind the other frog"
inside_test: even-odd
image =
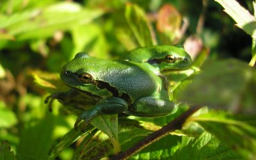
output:
[[[173,70],[186,70],[192,64],[189,54],[179,45],[157,45],[133,49],[124,59],[152,65],[163,75],[170,74]]]

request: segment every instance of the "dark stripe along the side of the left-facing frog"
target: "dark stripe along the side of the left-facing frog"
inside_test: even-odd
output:
[[[106,83],[106,82],[103,82],[103,81],[97,81],[96,80],[96,83],[95,85],[97,86],[97,88],[99,89],[104,89],[106,88],[106,90],[108,90],[109,92],[112,93],[112,95],[114,97],[120,97],[121,99],[124,99],[128,104],[131,104],[132,103],[132,100],[131,100],[131,97],[127,94],[127,93],[122,93],[121,96],[119,96],[119,92],[118,90],[113,87],[113,86],[110,86],[109,83]]]

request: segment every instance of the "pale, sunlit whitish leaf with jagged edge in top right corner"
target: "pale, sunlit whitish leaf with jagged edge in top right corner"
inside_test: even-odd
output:
[[[220,3],[225,12],[237,22],[237,26],[243,29],[248,35],[256,38],[256,19],[235,0],[215,0]]]

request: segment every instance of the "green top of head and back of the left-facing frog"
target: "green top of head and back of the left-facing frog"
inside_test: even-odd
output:
[[[134,100],[141,95],[153,95],[162,88],[161,78],[150,69],[133,61],[102,60],[88,54],[79,53],[74,60],[65,65],[69,72],[90,74],[93,79],[102,83],[109,92],[118,95],[127,93]]]

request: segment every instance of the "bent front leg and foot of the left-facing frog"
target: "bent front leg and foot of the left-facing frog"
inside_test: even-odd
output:
[[[77,129],[78,124],[84,120],[81,127],[81,130],[84,131],[86,125],[88,125],[95,116],[124,113],[127,108],[128,104],[125,100],[118,97],[107,97],[97,102],[92,109],[84,111],[84,113],[77,118],[74,127]]]

